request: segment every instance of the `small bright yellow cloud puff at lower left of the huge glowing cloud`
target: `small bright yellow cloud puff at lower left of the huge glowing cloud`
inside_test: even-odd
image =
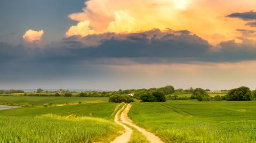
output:
[[[94,33],[94,30],[90,29],[90,21],[85,20],[77,23],[76,26],[71,26],[68,31],[66,32],[66,36],[75,36],[75,35],[80,35],[80,36],[87,36],[90,34]]]

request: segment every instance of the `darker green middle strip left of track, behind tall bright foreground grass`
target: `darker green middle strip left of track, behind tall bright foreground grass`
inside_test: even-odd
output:
[[[55,114],[68,116],[70,114],[77,116],[101,117],[103,119],[112,119],[111,114],[115,110],[117,103],[89,103],[68,106],[52,107],[22,107],[10,110],[1,110],[1,116],[38,116],[43,114]]]

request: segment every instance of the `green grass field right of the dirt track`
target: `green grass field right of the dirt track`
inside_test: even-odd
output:
[[[256,142],[256,102],[132,103],[129,116],[165,142]]]

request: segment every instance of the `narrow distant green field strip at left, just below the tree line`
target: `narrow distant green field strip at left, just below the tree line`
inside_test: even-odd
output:
[[[43,104],[65,104],[65,103],[102,103],[108,102],[108,97],[35,97],[35,96],[0,96],[0,104],[13,103],[14,105],[34,105]]]

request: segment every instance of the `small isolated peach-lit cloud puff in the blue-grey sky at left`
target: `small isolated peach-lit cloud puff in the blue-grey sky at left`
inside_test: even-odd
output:
[[[42,37],[44,35],[44,31],[35,31],[32,29],[29,29],[26,31],[26,33],[22,36],[23,40],[25,40],[28,43],[40,43],[42,40]]]

